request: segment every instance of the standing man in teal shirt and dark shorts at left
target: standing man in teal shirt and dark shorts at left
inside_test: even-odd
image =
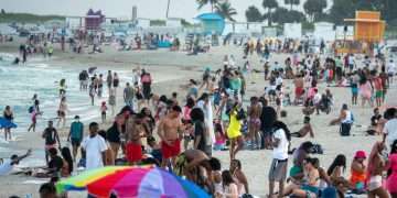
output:
[[[71,124],[71,131],[67,136],[68,142],[72,140],[73,161],[76,161],[77,151],[83,141],[83,134],[84,134],[84,124],[79,121],[79,117],[76,116],[75,121],[73,121]]]

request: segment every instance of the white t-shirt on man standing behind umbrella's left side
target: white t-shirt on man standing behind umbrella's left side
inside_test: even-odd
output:
[[[85,138],[82,147],[86,152],[86,169],[104,166],[101,153],[107,150],[107,145],[100,135]]]

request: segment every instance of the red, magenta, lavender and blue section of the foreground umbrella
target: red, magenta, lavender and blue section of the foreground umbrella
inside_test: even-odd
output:
[[[195,184],[164,169],[130,168],[118,170],[88,184],[89,195],[108,198],[206,198],[210,197]]]

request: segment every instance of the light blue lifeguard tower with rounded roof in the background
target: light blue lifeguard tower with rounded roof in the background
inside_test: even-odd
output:
[[[222,35],[225,30],[225,19],[217,13],[203,13],[195,19],[202,24],[203,34]]]

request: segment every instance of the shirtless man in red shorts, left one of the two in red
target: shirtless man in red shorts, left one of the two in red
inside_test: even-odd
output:
[[[142,160],[142,141],[144,133],[142,122],[138,118],[129,118],[126,123],[126,157],[129,165],[137,165]]]

